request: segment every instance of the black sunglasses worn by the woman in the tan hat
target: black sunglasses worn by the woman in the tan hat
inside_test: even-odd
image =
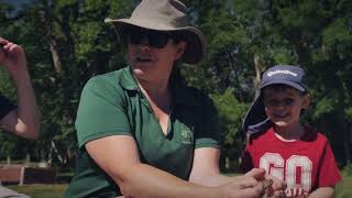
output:
[[[172,32],[155,31],[138,26],[124,28],[121,33],[121,40],[125,44],[139,45],[144,41],[147,41],[147,44],[155,48],[165,47],[170,38],[178,43],[182,41],[182,35]]]

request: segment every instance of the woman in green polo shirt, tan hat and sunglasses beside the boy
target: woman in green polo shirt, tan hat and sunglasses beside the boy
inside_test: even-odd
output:
[[[66,197],[230,198],[264,191],[263,169],[220,174],[216,110],[178,78],[177,63],[197,64],[206,51],[185,12],[177,0],[143,0],[130,19],[106,20],[128,45],[130,66],[91,78],[82,90],[76,175]]]

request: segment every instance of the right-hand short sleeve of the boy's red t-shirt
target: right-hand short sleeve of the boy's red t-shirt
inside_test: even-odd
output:
[[[336,164],[332,150],[328,142],[319,173],[318,187],[334,186],[341,180],[340,170]]]

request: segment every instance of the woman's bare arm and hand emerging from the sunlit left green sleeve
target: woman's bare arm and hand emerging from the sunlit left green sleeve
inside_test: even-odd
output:
[[[245,178],[219,187],[182,180],[140,162],[135,141],[130,135],[112,135],[86,144],[94,161],[119,185],[124,197],[257,197],[263,184]]]

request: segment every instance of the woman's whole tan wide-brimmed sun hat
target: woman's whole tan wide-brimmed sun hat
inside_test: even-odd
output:
[[[179,31],[185,34],[187,48],[180,61],[199,63],[206,54],[206,38],[200,30],[189,26],[186,6],[177,0],[142,0],[129,19],[106,19],[120,34],[127,24],[156,31]]]

